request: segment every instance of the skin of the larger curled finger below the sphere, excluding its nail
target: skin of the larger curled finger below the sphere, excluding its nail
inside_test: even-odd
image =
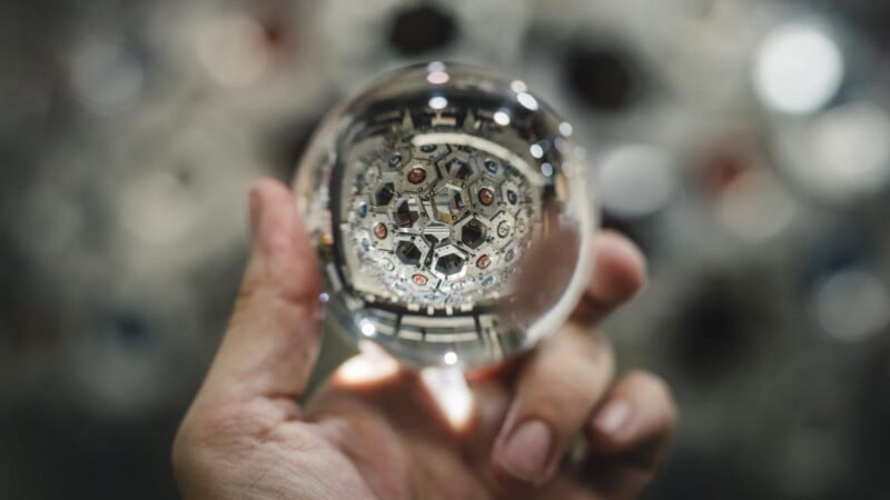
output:
[[[514,400],[493,449],[495,477],[506,489],[536,487],[553,477],[560,458],[609,388],[613,369],[605,339],[571,322],[528,358],[517,373]],[[507,456],[521,429],[533,422],[543,422],[551,440],[544,467],[530,474],[511,467]]]

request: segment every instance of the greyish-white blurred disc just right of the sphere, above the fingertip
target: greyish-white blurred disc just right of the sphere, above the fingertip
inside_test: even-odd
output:
[[[622,146],[606,152],[600,161],[596,186],[606,210],[632,219],[661,211],[678,189],[670,156],[649,144]]]

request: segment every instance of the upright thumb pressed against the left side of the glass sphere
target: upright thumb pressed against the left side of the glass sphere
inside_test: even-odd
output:
[[[318,354],[318,268],[290,191],[257,181],[250,224],[250,259],[199,398],[298,398]]]

